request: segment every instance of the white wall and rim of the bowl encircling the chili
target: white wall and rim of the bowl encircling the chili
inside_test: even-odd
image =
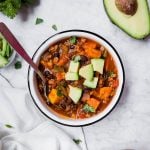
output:
[[[109,51],[109,53],[114,58],[115,63],[117,65],[117,69],[118,69],[119,86],[118,86],[116,94],[113,97],[113,99],[111,100],[110,104],[101,113],[99,113],[93,117],[87,118],[87,119],[73,120],[73,119],[68,119],[68,118],[67,119],[62,118],[62,117],[56,115],[56,113],[53,112],[51,109],[49,109],[48,106],[43,102],[42,97],[37,89],[35,73],[31,67],[29,67],[29,70],[28,70],[29,92],[31,94],[31,97],[32,97],[35,105],[49,119],[51,119],[57,123],[60,123],[63,125],[68,125],[68,126],[90,125],[90,124],[97,122],[97,121],[103,119],[104,117],[106,117],[118,103],[118,101],[121,97],[123,88],[124,88],[124,82],[125,82],[124,69],[123,69],[123,65],[122,65],[121,59],[120,59],[117,51],[109,42],[107,42],[103,37],[101,37],[95,33],[92,33],[89,31],[84,31],[84,30],[68,30],[68,31],[60,32],[58,34],[51,36],[46,41],[44,41],[40,45],[40,47],[36,50],[36,52],[33,55],[33,61],[38,64],[40,56],[50,45],[52,45],[55,42],[60,41],[64,38],[70,37],[70,36],[86,37],[86,38],[92,39],[94,41],[97,41],[98,43],[100,43],[104,47],[106,47],[106,49]]]

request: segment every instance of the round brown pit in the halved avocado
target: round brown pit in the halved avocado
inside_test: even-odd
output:
[[[115,5],[119,11],[131,16],[136,13],[138,8],[137,0],[115,0]]]

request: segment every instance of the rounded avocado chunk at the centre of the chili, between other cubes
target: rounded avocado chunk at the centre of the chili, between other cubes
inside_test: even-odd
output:
[[[89,65],[83,66],[79,70],[79,75],[89,81],[93,80],[93,75],[94,75],[93,65],[89,64]]]

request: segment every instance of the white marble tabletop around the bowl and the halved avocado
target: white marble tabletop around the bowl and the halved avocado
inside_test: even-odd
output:
[[[149,0],[150,3],[150,0]],[[44,23],[34,25],[36,17]],[[58,31],[85,29],[110,41],[120,54],[126,73],[123,96],[114,111],[104,120],[84,127],[89,150],[150,149],[150,38],[134,40],[107,18],[102,0],[40,0],[33,9],[24,9],[14,20],[0,15],[32,56],[46,38]],[[27,67],[13,65],[0,70],[16,88],[27,90]],[[1,86],[9,86],[0,77]],[[74,130],[74,129],[73,129]]]

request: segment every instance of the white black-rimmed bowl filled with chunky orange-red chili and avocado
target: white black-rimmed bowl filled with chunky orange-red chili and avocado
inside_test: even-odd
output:
[[[28,70],[30,95],[49,119],[68,126],[90,125],[117,105],[125,74],[115,48],[103,37],[84,30],[68,30],[45,40],[33,55],[46,78],[48,100],[41,79]]]

